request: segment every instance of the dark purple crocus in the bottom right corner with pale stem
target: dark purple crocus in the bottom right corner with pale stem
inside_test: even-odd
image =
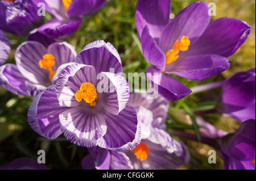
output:
[[[243,121],[234,133],[217,129],[201,117],[196,117],[196,121],[200,125],[201,141],[218,151],[224,160],[224,169],[255,170],[255,120]],[[171,133],[197,141],[194,134],[176,130],[172,130]]]

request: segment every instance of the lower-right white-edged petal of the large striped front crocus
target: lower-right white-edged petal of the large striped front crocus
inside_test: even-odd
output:
[[[106,113],[108,127],[98,146],[114,151],[133,150],[141,142],[141,126],[133,107],[126,106],[118,115]]]

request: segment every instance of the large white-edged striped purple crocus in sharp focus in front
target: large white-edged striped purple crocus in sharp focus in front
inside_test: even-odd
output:
[[[110,68],[114,73],[110,73]],[[33,100],[28,123],[41,136],[61,133],[83,147],[127,151],[139,144],[141,128],[133,107],[126,106],[129,86],[121,59],[110,43],[95,41],[59,68],[49,86]]]

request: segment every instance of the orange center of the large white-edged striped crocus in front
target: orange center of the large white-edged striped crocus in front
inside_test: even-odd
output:
[[[81,102],[81,100],[84,99],[86,103],[89,103],[91,107],[94,107],[97,103],[96,88],[92,83],[82,83],[80,90],[75,94],[75,98],[78,102]]]

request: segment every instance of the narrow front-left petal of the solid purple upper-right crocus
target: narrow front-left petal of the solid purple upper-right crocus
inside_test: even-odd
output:
[[[150,35],[150,30],[147,26],[145,26],[142,31],[141,45],[142,52],[146,60],[156,66],[159,70],[164,70],[166,66],[166,56]]]

